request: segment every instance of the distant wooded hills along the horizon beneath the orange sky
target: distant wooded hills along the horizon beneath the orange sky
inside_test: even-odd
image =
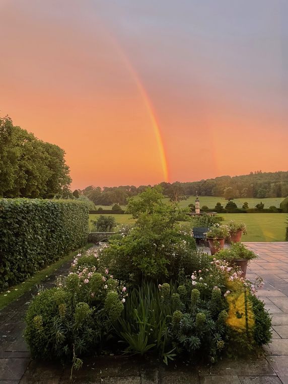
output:
[[[187,196],[219,196],[227,200],[233,198],[256,197],[286,197],[288,196],[287,172],[251,172],[242,176],[221,176],[186,183],[160,183],[165,196],[173,201],[185,199]],[[150,186],[150,185],[149,185]],[[96,205],[126,205],[127,199],[143,192],[148,185],[122,185],[119,187],[89,186],[84,190],[73,192],[75,197],[86,196]]]

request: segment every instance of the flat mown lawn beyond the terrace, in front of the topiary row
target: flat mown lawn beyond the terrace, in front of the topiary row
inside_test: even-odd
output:
[[[98,215],[90,215],[91,220],[95,220]],[[133,223],[131,215],[111,215],[119,224]],[[243,221],[247,225],[248,234],[242,237],[245,242],[281,242],[285,241],[286,213],[226,213],[222,214],[225,221]],[[224,222],[225,222],[224,221]],[[189,225],[188,222],[181,222]]]

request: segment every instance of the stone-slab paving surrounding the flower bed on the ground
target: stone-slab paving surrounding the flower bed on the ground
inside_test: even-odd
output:
[[[273,315],[273,340],[258,360],[228,360],[209,367],[191,368],[185,363],[164,367],[149,359],[107,356],[85,360],[74,382],[93,384],[288,384],[288,243],[246,243],[259,254],[250,263],[247,277],[263,277],[258,292]],[[43,284],[49,287],[66,263]],[[36,292],[36,290],[35,290]],[[25,303],[31,292],[0,311],[0,384],[68,384],[70,371],[55,363],[30,359],[23,340]]]

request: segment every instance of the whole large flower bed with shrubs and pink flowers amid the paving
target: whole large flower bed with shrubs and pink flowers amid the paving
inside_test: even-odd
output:
[[[177,207],[161,201],[149,213],[141,205],[134,227],[78,255],[68,276],[34,298],[25,332],[33,357],[76,368],[91,353],[214,362],[270,342],[271,320],[255,296],[261,281],[197,251]]]

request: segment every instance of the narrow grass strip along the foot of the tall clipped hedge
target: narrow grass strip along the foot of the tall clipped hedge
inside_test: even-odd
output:
[[[65,264],[69,260],[73,260],[73,258],[81,251],[87,250],[92,247],[92,243],[88,243],[85,247],[80,250],[69,253],[68,255],[62,257],[61,259],[55,261],[55,263],[49,265],[48,267],[42,269],[41,271],[35,273],[35,275],[31,276],[29,279],[15,285],[13,287],[8,288],[7,290],[0,293],[0,310],[5,308],[12,301],[17,300],[24,293],[31,290],[36,284],[40,284],[42,280],[46,279],[52,273],[54,273],[58,268],[60,268],[63,264]]]

